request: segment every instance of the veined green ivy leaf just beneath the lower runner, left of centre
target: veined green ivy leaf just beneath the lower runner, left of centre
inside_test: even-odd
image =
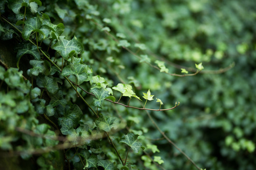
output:
[[[101,116],[101,117],[99,117],[95,120],[95,124],[100,129],[102,129],[106,132],[109,132],[109,131],[111,131],[111,129],[113,127],[116,126],[115,123],[114,123],[115,119],[116,119],[115,117]]]

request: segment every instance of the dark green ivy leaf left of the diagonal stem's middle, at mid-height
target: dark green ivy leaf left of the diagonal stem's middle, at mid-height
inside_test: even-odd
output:
[[[48,76],[38,76],[37,85],[42,88],[46,88],[49,93],[56,93],[58,91],[58,84],[54,78]]]

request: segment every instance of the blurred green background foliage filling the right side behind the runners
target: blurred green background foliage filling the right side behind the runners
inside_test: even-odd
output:
[[[64,23],[63,35],[67,39],[76,35],[83,43],[81,58],[93,68],[93,74],[104,77],[110,86],[132,84],[138,96],[150,89],[163,102],[162,108],[180,102],[174,110],[150,114],[199,167],[256,169],[255,0],[45,0],[42,3],[38,10],[51,17],[53,23]],[[113,36],[136,55],[119,47]],[[194,73],[195,63],[200,62],[205,69],[196,76],[170,76],[145,60],[152,65],[156,65],[156,60],[164,61],[169,73],[182,74],[180,68]],[[89,87],[84,85],[85,89]],[[65,94],[66,99],[81,102],[72,98],[74,91],[66,93],[69,93]],[[116,98],[118,95],[114,92]],[[130,105],[141,107],[135,99]],[[148,101],[147,107],[158,109],[159,103]],[[166,170],[195,169],[162,138],[145,112],[108,102],[104,102],[102,112],[125,119],[134,133],[142,135],[139,138],[143,145],[148,140],[157,145],[160,152],[154,155],[161,156],[164,161],[161,166]],[[102,147],[104,151],[109,149]],[[147,164],[145,157],[130,154],[130,162],[138,168],[142,159],[144,166],[157,169]],[[115,160],[116,156],[109,152],[108,158]]]

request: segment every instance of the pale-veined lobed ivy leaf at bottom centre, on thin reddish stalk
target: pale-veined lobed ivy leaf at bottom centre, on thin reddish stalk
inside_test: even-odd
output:
[[[124,137],[121,138],[119,142],[127,144],[133,149],[135,153],[138,153],[140,148],[142,148],[142,150],[144,149],[142,144],[137,139],[138,136],[139,135],[134,135],[133,133],[128,133],[127,135],[124,135]]]

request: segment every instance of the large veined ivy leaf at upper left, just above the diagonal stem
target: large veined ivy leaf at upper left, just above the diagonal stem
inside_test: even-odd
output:
[[[24,29],[22,30],[22,37],[25,40],[29,39],[30,34],[35,31],[42,34],[45,37],[45,34],[40,30],[42,22],[39,17],[32,17],[25,21]]]

